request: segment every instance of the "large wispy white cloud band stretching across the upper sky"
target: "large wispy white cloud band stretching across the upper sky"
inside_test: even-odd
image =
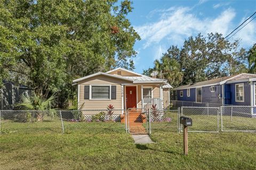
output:
[[[167,39],[172,44],[182,43],[184,38],[198,33],[206,35],[218,32],[227,35],[233,28],[232,21],[236,15],[233,9],[227,9],[216,18],[202,19],[202,16],[197,17],[188,7],[170,9],[162,12],[158,21],[135,27],[144,42],[143,48],[154,43],[158,44],[163,39]]]

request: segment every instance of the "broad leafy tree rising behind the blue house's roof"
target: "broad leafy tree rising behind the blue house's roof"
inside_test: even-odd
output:
[[[245,49],[239,48],[239,39],[229,42],[221,34],[208,34],[206,37],[198,34],[189,37],[183,46],[171,46],[160,61],[155,61],[154,69],[159,72],[159,77],[164,78],[163,67],[166,58],[179,63],[180,76],[169,76],[169,81],[175,79],[174,87],[178,85],[194,84],[207,79],[247,72]],[[168,59],[168,60],[170,60]],[[175,62],[172,61],[174,64]],[[171,66],[177,68],[178,66]],[[176,69],[178,71],[178,69]],[[147,73],[150,70],[145,70]],[[168,71],[167,71],[168,72]],[[177,72],[178,73],[178,72]],[[176,74],[177,74],[176,73]],[[183,76],[182,76],[183,75]],[[179,80],[181,80],[179,82]]]

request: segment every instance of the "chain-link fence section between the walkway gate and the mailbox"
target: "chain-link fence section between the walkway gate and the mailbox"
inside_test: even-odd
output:
[[[179,108],[177,110],[150,110],[150,132],[178,132]]]

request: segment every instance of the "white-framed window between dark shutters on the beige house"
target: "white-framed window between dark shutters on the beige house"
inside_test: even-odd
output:
[[[91,86],[91,99],[110,99],[110,86]]]

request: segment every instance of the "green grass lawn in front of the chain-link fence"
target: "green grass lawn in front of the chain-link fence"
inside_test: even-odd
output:
[[[97,129],[97,128],[95,128]],[[155,132],[134,144],[125,132],[10,133],[0,136],[0,169],[256,169],[255,133]]]

